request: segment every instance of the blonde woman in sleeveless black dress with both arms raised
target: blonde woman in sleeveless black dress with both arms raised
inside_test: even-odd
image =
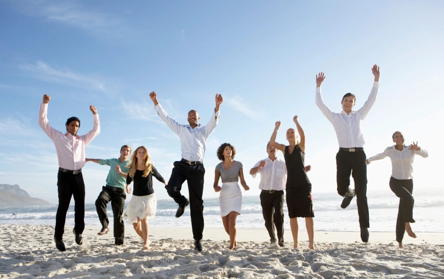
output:
[[[305,134],[299,125],[298,117],[294,116],[293,121],[296,124],[298,136],[293,128],[287,130],[288,146],[276,142],[277,130],[281,126],[281,121],[275,124],[273,135],[270,138],[270,144],[274,148],[284,153],[285,165],[287,166],[287,183],[285,186],[288,215],[290,217],[291,233],[293,234],[293,247],[299,247],[297,233],[299,225],[297,217],[305,218],[305,227],[307,228],[309,248],[314,249],[314,228],[313,228],[313,200],[311,195],[311,183],[308,179],[307,172],[304,167],[305,159]]]

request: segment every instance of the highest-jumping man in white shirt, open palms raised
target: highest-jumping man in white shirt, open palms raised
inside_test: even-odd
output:
[[[333,124],[339,143],[339,151],[336,155],[336,181],[337,192],[343,196],[341,207],[347,207],[356,195],[359,226],[361,227],[361,239],[369,241],[369,206],[367,205],[367,164],[364,152],[364,137],[362,136],[362,122],[376,101],[379,88],[379,67],[373,65],[373,76],[375,76],[373,88],[369,99],[357,111],[353,111],[356,96],[347,93],[342,97],[342,111],[332,112],[322,100],[321,83],[324,81],[324,73],[316,76],[316,104],[321,112]],[[350,174],[353,176],[355,189],[350,186]]]

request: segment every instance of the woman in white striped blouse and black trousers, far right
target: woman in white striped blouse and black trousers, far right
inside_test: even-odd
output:
[[[413,142],[409,146],[404,145],[404,136],[401,132],[395,132],[392,136],[393,146],[385,148],[384,152],[367,159],[367,164],[374,160],[384,159],[389,156],[392,160],[392,176],[390,177],[390,189],[399,197],[398,219],[396,221],[396,241],[402,248],[404,232],[408,236],[416,238],[410,227],[410,223],[415,223],[413,219],[413,157],[415,154],[421,157],[428,157],[427,151],[418,147],[418,142]]]

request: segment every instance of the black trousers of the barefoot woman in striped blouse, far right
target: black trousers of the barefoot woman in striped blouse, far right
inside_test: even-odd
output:
[[[415,223],[413,220],[412,196],[413,179],[396,179],[390,177],[390,189],[399,198],[398,218],[396,219],[396,241],[402,242],[405,232],[405,223]]]

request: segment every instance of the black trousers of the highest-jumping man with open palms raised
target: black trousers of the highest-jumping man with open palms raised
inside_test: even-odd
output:
[[[350,173],[355,182],[356,203],[358,206],[359,226],[370,227],[369,206],[367,205],[367,157],[364,151],[338,151],[336,154],[337,193],[345,196],[350,189]]]

